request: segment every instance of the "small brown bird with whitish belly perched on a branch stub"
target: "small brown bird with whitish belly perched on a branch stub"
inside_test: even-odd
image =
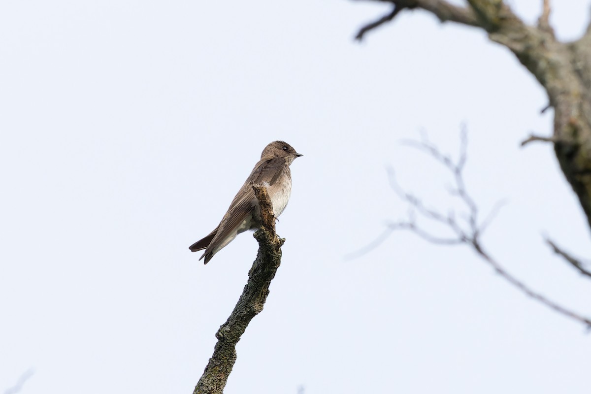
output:
[[[261,226],[261,210],[252,190],[254,184],[261,183],[267,186],[273,213],[278,217],[290,199],[290,164],[300,156],[303,155],[283,141],[274,141],[265,146],[261,159],[232,200],[222,222],[209,235],[189,246],[191,252],[205,249],[199,260],[205,258],[204,263],[207,264],[213,255],[232,242],[236,235]]]

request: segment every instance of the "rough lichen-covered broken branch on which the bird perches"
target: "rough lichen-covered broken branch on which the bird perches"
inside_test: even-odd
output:
[[[254,235],[259,243],[258,254],[248,272],[248,282],[238,299],[238,304],[226,323],[217,330],[213,356],[209,359],[193,394],[223,393],[236,362],[236,344],[252,318],[262,311],[269,295],[269,285],[281,264],[281,246],[285,240],[275,234],[275,216],[267,188],[264,185],[253,185],[252,188],[261,207],[262,227]]]

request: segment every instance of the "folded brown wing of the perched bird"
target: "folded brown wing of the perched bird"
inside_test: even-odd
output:
[[[205,249],[203,256],[201,256],[200,259],[205,258],[204,263],[207,264],[207,262],[209,262],[213,257],[212,251],[216,249],[220,243],[226,240],[226,238],[231,235],[240,224],[242,224],[249,214],[252,214],[252,211],[256,206],[256,198],[255,193],[252,190],[252,185],[256,183],[268,183],[269,185],[277,183],[284,168],[285,159],[282,157],[275,157],[257,163],[254,170],[252,170],[251,175],[249,175],[238,194],[236,194],[232,200],[228,212],[223,217],[219,226],[217,226],[215,236],[213,236],[213,239]]]

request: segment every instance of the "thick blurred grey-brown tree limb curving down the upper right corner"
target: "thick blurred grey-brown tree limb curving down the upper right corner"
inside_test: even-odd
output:
[[[442,22],[481,28],[515,54],[544,87],[554,108],[554,152],[591,227],[591,24],[579,40],[563,43],[548,22],[548,0],[540,1],[537,25],[525,24],[502,0],[466,0],[465,6],[445,0],[379,1],[401,9],[423,9]],[[366,27],[363,34],[371,30]]]

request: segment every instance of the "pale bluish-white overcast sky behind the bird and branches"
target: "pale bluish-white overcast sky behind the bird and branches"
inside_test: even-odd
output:
[[[513,0],[534,22],[541,0]],[[386,168],[447,211],[446,172],[401,140],[456,154],[483,238],[510,272],[591,315],[591,284],[543,243],[589,256],[589,228],[550,145],[541,87],[482,31],[426,12],[353,41],[388,6],[349,1],[0,4],[0,390],[190,393],[256,255],[251,233],[204,266],[262,149],[304,157],[287,241],[226,393],[588,393],[591,336],[465,247],[394,233]],[[588,1],[554,2],[563,40]],[[439,229],[440,230],[440,229]]]

